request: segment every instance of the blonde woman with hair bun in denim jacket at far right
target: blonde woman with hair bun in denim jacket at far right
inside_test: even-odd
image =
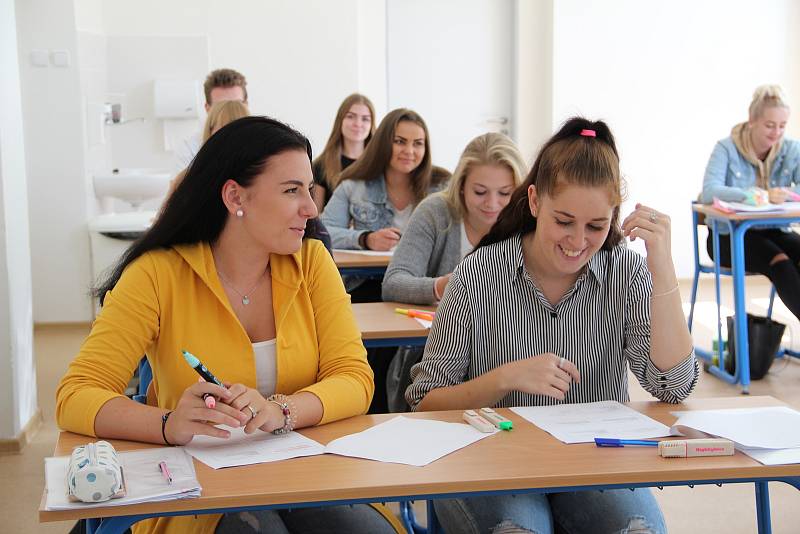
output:
[[[800,192],[800,141],[786,139],[789,105],[777,85],[762,85],[753,94],[747,122],[733,127],[717,143],[706,167],[702,200],[742,201],[746,190],[769,190],[770,202],[783,203],[787,189]],[[731,266],[728,229],[719,226],[720,264]],[[714,257],[711,232],[706,248]],[[744,267],[775,285],[786,307],[800,319],[800,236],[778,228],[755,228],[744,234]]]

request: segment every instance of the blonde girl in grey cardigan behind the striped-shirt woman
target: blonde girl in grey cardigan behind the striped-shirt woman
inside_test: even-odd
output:
[[[458,262],[483,239],[522,182],[527,165],[500,133],[476,137],[464,149],[445,191],[414,210],[383,278],[383,300],[435,304]],[[401,348],[389,367],[390,412],[408,411],[404,394],[422,348]]]

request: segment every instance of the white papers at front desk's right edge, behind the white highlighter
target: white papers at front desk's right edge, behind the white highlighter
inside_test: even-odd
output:
[[[726,438],[764,465],[800,463],[800,412],[785,406],[673,412],[680,435]]]

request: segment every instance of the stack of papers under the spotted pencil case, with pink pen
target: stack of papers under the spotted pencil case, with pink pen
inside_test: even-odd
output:
[[[121,506],[142,502],[169,501],[200,496],[200,483],[192,458],[181,447],[162,447],[120,452],[122,475],[125,478],[125,497],[101,503],[71,502],[67,498],[67,469],[69,456],[45,458],[45,489],[47,510]],[[169,484],[159,469],[166,462],[172,474]]]

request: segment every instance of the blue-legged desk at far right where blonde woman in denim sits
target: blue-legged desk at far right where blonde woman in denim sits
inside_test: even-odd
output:
[[[718,343],[718,365],[713,363],[713,354],[702,348],[695,348],[695,354],[708,362],[708,370],[714,376],[731,384],[741,384],[742,393],[750,392],[750,347],[747,335],[747,307],[745,305],[745,268],[744,268],[744,234],[752,228],[785,227],[800,222],[800,211],[778,213],[735,213],[728,214],[718,209],[694,204],[692,209],[706,217],[706,225],[712,233],[714,244],[714,268],[717,284],[719,284],[719,225],[725,225],[730,232],[731,241],[731,275],[733,277],[733,299],[735,316],[736,370],[734,374],[725,371],[722,357],[722,343]],[[699,246],[699,244],[698,244]],[[717,285],[717,295],[719,286]]]

